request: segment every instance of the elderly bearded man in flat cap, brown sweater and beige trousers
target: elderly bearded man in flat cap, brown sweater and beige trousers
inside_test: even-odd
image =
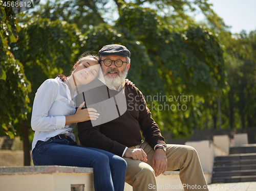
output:
[[[196,150],[165,144],[142,93],[124,83],[130,51],[110,44],[102,47],[99,56],[104,83],[98,81],[80,97],[102,118],[78,123],[81,144],[122,156],[127,162],[125,182],[133,190],[156,190],[155,176],[178,169],[184,190],[208,190]],[[146,144],[142,144],[140,131]]]

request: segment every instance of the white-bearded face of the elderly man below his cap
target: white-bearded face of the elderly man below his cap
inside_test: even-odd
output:
[[[126,62],[125,57],[118,55],[102,56],[101,60],[104,59],[122,60],[123,62]],[[114,62],[112,62],[110,66],[105,66],[103,61],[101,61],[101,68],[106,83],[121,84],[126,78],[130,63],[127,63],[127,65],[126,63],[123,63],[121,67],[116,67]]]

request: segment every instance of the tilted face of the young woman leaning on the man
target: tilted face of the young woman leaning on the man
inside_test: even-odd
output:
[[[75,67],[73,75],[77,86],[79,86],[90,83],[98,76],[100,64],[93,58],[86,58]]]

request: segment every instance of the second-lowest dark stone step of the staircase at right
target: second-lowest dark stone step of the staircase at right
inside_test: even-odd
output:
[[[231,171],[214,171],[213,177],[229,177],[229,176],[256,176],[255,170],[231,170]]]

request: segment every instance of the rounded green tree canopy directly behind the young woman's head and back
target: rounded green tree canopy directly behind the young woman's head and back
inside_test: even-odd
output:
[[[81,45],[79,34],[74,24],[60,20],[36,18],[21,25],[19,38],[11,45],[11,49],[15,58],[23,63],[25,74],[31,82],[32,91],[28,94],[30,107],[33,105],[36,90],[44,80],[55,78],[57,74],[69,75]],[[23,126],[27,129],[26,136],[31,136],[31,141],[31,112],[27,116],[28,120],[24,121]],[[27,149],[29,151],[30,145]]]

